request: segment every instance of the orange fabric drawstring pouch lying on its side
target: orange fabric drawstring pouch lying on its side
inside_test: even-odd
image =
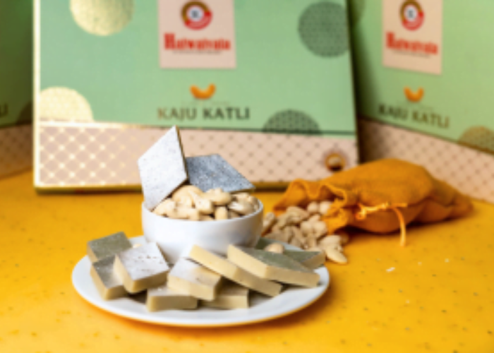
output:
[[[322,217],[329,234],[347,226],[374,233],[400,229],[402,246],[409,223],[439,222],[472,209],[469,198],[434,179],[423,167],[402,160],[378,160],[320,181],[292,181],[275,205],[275,213],[323,200],[333,201]]]

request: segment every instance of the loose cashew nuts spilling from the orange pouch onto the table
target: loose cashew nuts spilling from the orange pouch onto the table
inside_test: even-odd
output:
[[[330,201],[314,201],[309,203],[305,210],[291,206],[279,217],[274,213],[267,213],[263,222],[263,236],[307,251],[324,251],[328,260],[347,263],[343,245],[349,241],[348,234],[343,231],[327,234],[326,224],[321,220],[330,207]]]

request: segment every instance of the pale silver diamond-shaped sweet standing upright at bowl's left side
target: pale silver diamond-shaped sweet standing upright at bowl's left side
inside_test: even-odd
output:
[[[138,167],[144,205],[154,210],[188,178],[179,128],[173,126],[159,138],[139,158]]]

